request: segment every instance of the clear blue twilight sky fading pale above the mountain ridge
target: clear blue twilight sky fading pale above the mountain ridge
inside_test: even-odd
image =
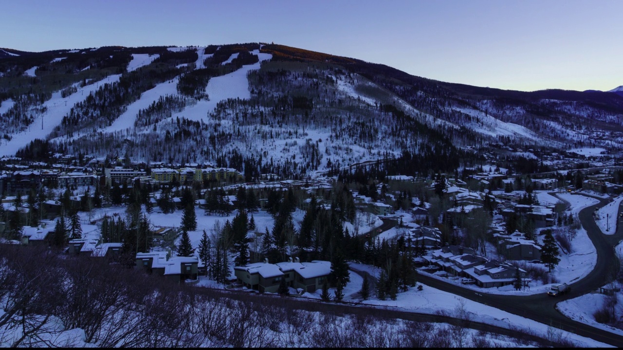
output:
[[[621,0],[4,0],[0,47],[275,42],[510,90],[623,85]]]

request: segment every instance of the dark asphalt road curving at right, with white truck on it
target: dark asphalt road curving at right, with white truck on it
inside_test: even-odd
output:
[[[486,293],[478,293],[467,288],[461,288],[460,286],[426,275],[418,275],[419,281],[434,288],[477,301],[478,303],[621,348],[623,347],[623,336],[573,321],[556,310],[556,303],[559,301],[591,293],[600,286],[606,285],[614,279],[613,272],[617,272],[619,269],[619,261],[614,252],[614,247],[623,238],[623,230],[621,230],[621,227],[617,227],[617,232],[614,235],[601,233],[601,230],[599,230],[592,218],[592,214],[596,208],[605,206],[609,201],[607,199],[596,199],[599,200],[599,203],[581,210],[579,219],[596,248],[597,263],[592,272],[586,277],[571,284],[571,293],[568,295],[563,295],[559,298],[552,298],[546,295],[546,293],[531,296],[487,295]],[[619,207],[619,210],[621,210],[621,207]]]

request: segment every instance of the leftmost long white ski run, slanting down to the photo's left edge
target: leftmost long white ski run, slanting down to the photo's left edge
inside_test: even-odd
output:
[[[4,141],[2,147],[0,147],[0,156],[12,156],[17,150],[26,146],[36,138],[45,140],[46,136],[54,130],[55,126],[60,124],[63,117],[69,113],[76,103],[85,100],[89,93],[99,88],[100,83],[118,82],[120,76],[121,75],[110,75],[110,77],[104,78],[101,82],[95,82],[82,89],[78,89],[77,92],[72,93],[72,95],[66,98],[60,95],[60,91],[53,93],[52,98],[42,105],[47,108],[47,111],[42,115],[37,115],[34,122],[26,130],[11,135],[12,138],[10,141]]]

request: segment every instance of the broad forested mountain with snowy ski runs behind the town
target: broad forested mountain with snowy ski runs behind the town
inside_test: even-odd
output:
[[[292,176],[405,153],[452,168],[497,143],[623,147],[612,93],[471,87],[274,44],[0,52],[0,156],[39,139]]]

